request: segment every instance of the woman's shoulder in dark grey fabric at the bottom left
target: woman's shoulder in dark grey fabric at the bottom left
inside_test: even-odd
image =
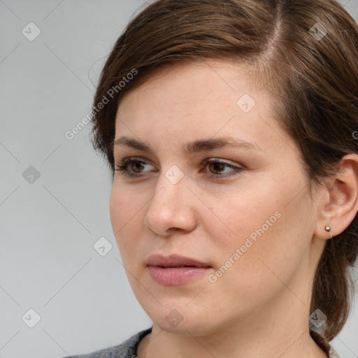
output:
[[[71,355],[62,358],[134,358],[136,357],[136,350],[141,340],[150,334],[152,327],[140,331],[137,334],[131,336],[120,345],[115,345],[110,348],[104,348],[102,350],[96,350],[95,352],[87,353],[85,355]]]

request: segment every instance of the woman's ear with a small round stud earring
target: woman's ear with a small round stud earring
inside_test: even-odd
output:
[[[358,155],[345,155],[339,164],[336,176],[332,178],[322,195],[322,206],[315,227],[317,238],[331,238],[341,234],[352,222],[358,210]]]

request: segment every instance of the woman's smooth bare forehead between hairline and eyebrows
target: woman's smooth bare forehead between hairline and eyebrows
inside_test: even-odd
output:
[[[124,94],[115,137],[181,146],[184,141],[236,135],[269,145],[278,139],[270,129],[271,109],[271,99],[255,84],[248,64],[214,60],[167,64]]]

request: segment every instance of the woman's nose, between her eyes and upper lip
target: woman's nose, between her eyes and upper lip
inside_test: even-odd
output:
[[[185,176],[174,184],[163,173],[148,203],[144,226],[165,237],[177,230],[192,231],[196,227],[195,199]]]

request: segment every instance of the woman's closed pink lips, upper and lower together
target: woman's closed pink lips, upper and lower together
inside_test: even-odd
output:
[[[185,285],[211,268],[204,262],[180,255],[150,255],[145,263],[152,279],[164,286]]]

